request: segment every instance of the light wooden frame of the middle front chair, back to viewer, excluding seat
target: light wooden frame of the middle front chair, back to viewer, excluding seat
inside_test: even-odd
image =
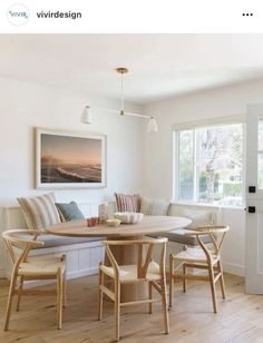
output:
[[[114,270],[114,276],[111,280],[114,281],[114,290],[106,287],[105,285],[105,274],[103,271],[104,264],[99,265],[99,313],[98,320],[103,318],[103,302],[104,294],[106,294],[115,304],[115,332],[116,332],[116,341],[119,341],[119,321],[120,321],[120,307],[137,305],[137,304],[149,304],[149,314],[153,313],[153,303],[162,302],[163,303],[163,314],[164,314],[164,324],[165,324],[165,333],[169,333],[169,322],[168,322],[168,311],[167,311],[167,300],[166,300],[166,273],[165,273],[165,254],[166,254],[166,243],[167,238],[149,238],[149,239],[140,239],[140,241],[104,241],[103,244],[106,247],[106,256],[108,257],[109,264]],[[160,249],[160,258],[159,258],[159,284],[156,281],[147,280],[148,267],[153,255],[154,245],[162,245]],[[114,257],[113,252],[110,251],[110,246],[128,246],[136,245],[137,246],[137,265],[135,265],[137,270],[137,277],[134,280],[129,280],[127,282],[121,281],[120,278],[120,267]],[[147,247],[145,258],[144,258],[144,247]],[[110,276],[109,276],[110,277]],[[139,282],[148,282],[148,298],[133,302],[120,302],[120,285],[128,283],[139,283]],[[153,287],[159,293],[160,300],[153,298]]]

